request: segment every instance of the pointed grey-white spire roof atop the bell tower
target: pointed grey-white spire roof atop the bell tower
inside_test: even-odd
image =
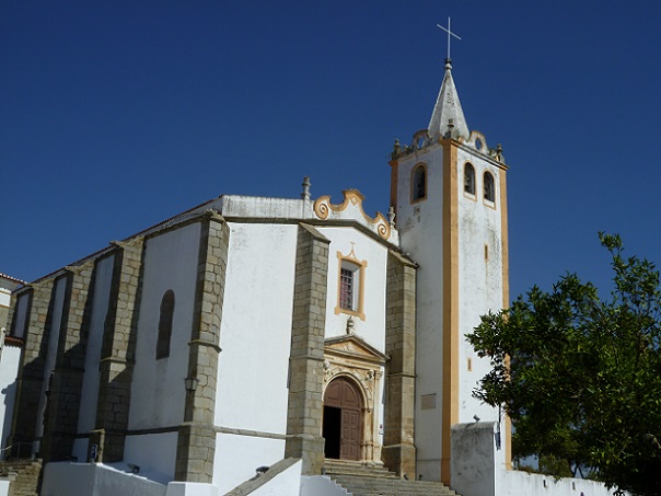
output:
[[[451,120],[452,119],[452,120]],[[464,117],[462,104],[459,101],[459,93],[452,79],[452,60],[445,59],[445,76],[441,84],[439,97],[436,101],[431,119],[429,120],[429,136],[432,139],[438,139],[440,136],[445,136],[450,130],[450,123],[453,124],[452,137],[468,139],[471,131]]]

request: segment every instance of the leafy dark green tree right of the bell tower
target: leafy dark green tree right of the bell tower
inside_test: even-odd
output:
[[[659,272],[625,258],[618,235],[600,240],[613,258],[610,297],[569,274],[484,315],[467,338],[492,369],[474,394],[505,406],[515,458],[561,460],[610,487],[661,495]]]

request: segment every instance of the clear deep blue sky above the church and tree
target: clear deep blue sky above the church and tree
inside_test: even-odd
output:
[[[220,194],[387,211],[452,16],[471,129],[510,165],[512,296],[659,262],[661,2],[0,2],[0,272],[33,280]]]

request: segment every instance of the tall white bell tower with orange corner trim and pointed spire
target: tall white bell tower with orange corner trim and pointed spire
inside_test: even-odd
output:
[[[395,141],[390,164],[402,249],[419,265],[417,473],[451,484],[452,426],[492,423],[498,463],[511,457],[509,422],[472,395],[489,361],[464,337],[509,304],[508,168],[500,146],[468,129],[450,58],[428,128],[408,146]]]

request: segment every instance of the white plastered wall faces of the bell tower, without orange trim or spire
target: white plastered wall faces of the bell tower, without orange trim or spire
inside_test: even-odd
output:
[[[472,142],[457,148],[455,166],[459,235],[459,422],[497,420],[498,411],[473,399],[477,381],[488,371],[464,339],[479,323],[479,316],[497,311],[503,302],[502,217],[499,196],[500,170],[474,151]],[[464,164],[475,168],[476,194],[464,194]],[[411,171],[427,165],[427,197],[410,201]],[[416,344],[416,448],[418,473],[438,480],[441,459],[442,366],[443,366],[443,148],[432,145],[424,151],[399,159],[397,186],[397,229],[402,249],[419,264],[417,273]],[[489,170],[496,185],[494,206],[483,200],[483,174]],[[487,246],[485,251],[485,246]],[[434,396],[436,395],[436,396]],[[422,402],[422,396],[426,401]],[[436,401],[434,401],[436,400]],[[436,404],[436,407],[433,406]],[[425,407],[424,407],[425,406]],[[505,440],[505,435],[502,436]],[[505,453],[505,449],[502,450]]]

